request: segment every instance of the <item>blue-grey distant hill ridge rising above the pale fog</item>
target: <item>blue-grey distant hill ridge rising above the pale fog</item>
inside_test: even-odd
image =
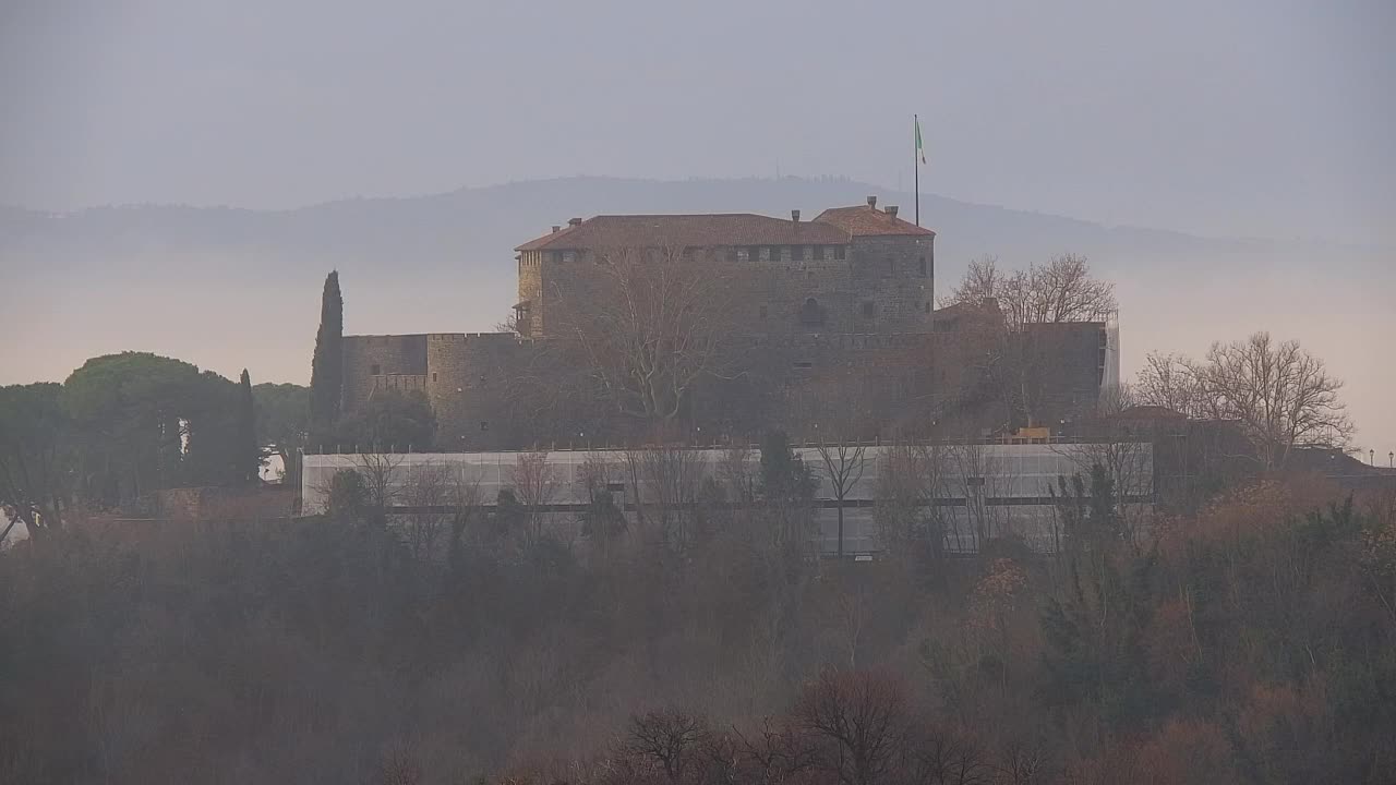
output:
[[[399,272],[465,265],[487,275],[501,271],[512,275],[511,249],[570,217],[718,211],[785,217],[792,208],[814,217],[825,207],[861,204],[867,196],[877,196],[879,204],[898,204],[903,215],[910,217],[912,194],[846,179],[653,182],[568,177],[413,198],[342,200],[290,211],[128,205],[40,214],[4,208],[0,210],[0,253],[7,260],[6,268],[14,254],[20,254],[20,258],[40,260],[67,271],[88,268],[112,254],[144,257],[138,270],[163,272],[166,263],[187,270],[190,257],[207,258],[209,253],[226,251],[246,254],[254,270],[282,272],[282,256],[296,254],[304,261],[342,257],[350,270],[357,263],[371,271],[392,260]],[[1178,261],[1187,264],[1209,253],[1262,256],[1328,247],[1323,243],[1205,239],[1160,229],[1107,228],[933,194],[921,196],[921,218],[940,235],[937,257],[952,267],[983,253],[1041,258],[1053,251],[1074,250],[1094,254],[1113,267],[1128,265],[1129,257],[1138,254],[1178,254]]]

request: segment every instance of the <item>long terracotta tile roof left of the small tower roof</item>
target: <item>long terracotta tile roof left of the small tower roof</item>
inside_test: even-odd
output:
[[[713,215],[597,215],[524,243],[517,251],[597,247],[838,246],[842,228],[751,212]]]

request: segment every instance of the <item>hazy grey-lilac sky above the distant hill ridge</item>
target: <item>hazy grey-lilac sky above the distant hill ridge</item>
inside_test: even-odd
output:
[[[1396,1],[0,0],[0,203],[849,175],[1396,240]]]

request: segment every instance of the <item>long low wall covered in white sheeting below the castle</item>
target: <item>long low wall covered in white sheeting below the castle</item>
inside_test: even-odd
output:
[[[1153,501],[1149,443],[797,447],[794,453],[818,482],[814,515],[825,555],[885,552],[888,536],[877,510],[898,503],[893,497],[899,493],[906,504],[921,508],[923,517],[935,517],[944,546],[952,552],[974,552],[984,539],[1004,536],[1055,550],[1061,532],[1053,490],[1061,478],[1086,475],[1093,464],[1110,468],[1131,511],[1146,511]],[[334,475],[357,471],[371,485],[388,489],[391,508],[402,513],[441,511],[462,499],[461,489],[473,503],[493,507],[501,490],[511,490],[568,521],[586,508],[595,489],[604,487],[634,514],[637,504],[694,504],[709,480],[718,487],[752,482],[759,461],[757,448],[304,455],[302,510],[324,513]],[[916,487],[907,490],[909,485]],[[424,487],[431,492],[423,493]]]

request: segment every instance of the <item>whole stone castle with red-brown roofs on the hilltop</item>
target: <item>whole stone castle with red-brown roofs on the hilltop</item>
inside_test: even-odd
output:
[[[1022,380],[1005,383],[995,366],[1007,346],[994,338],[1002,318],[993,303],[934,307],[934,240],[875,197],[812,221],[800,211],[789,219],[574,218],[515,249],[514,331],[345,337],[343,411],[384,390],[420,391],[437,416],[437,447],[448,451],[644,437],[646,423],[607,398],[595,348],[577,338],[577,313],[600,296],[597,271],[613,270],[621,251],[638,264],[667,258],[698,282],[722,271],[716,293],[698,307],[723,314],[722,352],[732,363],[726,373],[695,374],[666,418],[694,443],[751,439],[772,426],[796,439],[838,430],[871,440],[934,436],[953,422],[980,436],[1067,423],[1093,408],[1118,377],[1108,325],[1043,324],[1030,346],[1013,339],[1019,355],[1033,355],[1040,388],[1036,422],[1015,423],[1012,392],[1001,390]]]

